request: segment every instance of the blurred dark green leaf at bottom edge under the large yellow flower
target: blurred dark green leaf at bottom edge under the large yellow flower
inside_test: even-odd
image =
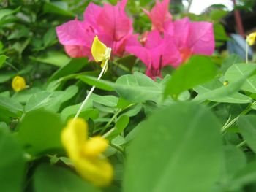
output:
[[[34,174],[34,190],[36,192],[99,192],[98,188],[82,180],[69,169],[47,164],[41,164],[37,167]]]

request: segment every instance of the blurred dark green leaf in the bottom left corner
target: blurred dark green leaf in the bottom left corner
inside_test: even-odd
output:
[[[0,185],[1,191],[23,191],[25,159],[18,142],[0,128]]]

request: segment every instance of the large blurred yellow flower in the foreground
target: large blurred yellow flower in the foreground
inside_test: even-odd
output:
[[[61,133],[61,141],[76,171],[94,185],[105,186],[113,178],[113,167],[102,155],[108,147],[103,137],[88,138],[88,125],[82,118],[69,120]]]

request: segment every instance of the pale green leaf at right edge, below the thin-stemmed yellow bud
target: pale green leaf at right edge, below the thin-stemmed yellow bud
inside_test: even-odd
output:
[[[235,82],[241,77],[244,77],[246,73],[254,71],[256,64],[235,64],[230,66],[225,73],[225,80],[229,82]],[[246,78],[244,85],[241,87],[244,91],[256,93],[256,75]]]

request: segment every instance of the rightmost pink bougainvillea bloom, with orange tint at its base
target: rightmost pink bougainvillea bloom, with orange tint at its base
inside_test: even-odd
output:
[[[212,23],[191,22],[189,18],[167,22],[165,23],[165,35],[173,37],[183,62],[187,61],[191,55],[212,55],[214,53]]]

